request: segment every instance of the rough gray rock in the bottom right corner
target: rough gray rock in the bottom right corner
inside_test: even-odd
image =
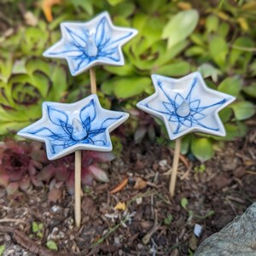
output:
[[[218,233],[209,236],[195,256],[256,256],[256,202]]]

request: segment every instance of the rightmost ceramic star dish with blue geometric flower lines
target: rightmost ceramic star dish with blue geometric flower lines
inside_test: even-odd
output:
[[[137,108],[162,119],[171,140],[189,132],[225,136],[218,112],[235,100],[207,87],[201,73],[182,79],[152,75],[155,93],[137,103]]]

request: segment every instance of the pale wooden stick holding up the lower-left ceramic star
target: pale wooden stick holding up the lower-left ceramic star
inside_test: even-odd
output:
[[[81,151],[75,152],[75,223],[81,224]]]

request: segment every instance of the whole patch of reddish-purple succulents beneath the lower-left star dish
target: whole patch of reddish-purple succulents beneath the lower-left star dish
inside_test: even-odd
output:
[[[9,194],[13,194],[19,189],[27,191],[32,189],[32,186],[40,187],[44,183],[49,184],[50,190],[60,189],[65,184],[67,191],[73,194],[73,158],[71,154],[61,160],[49,162],[42,143],[15,142],[13,139],[6,139],[0,144],[0,185],[6,188]],[[108,182],[107,173],[97,163],[108,162],[113,158],[111,153],[84,152],[82,184],[91,185],[94,179]]]

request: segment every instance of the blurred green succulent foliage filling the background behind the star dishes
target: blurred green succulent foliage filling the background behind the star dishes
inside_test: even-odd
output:
[[[1,137],[39,119],[44,101],[74,102],[90,94],[89,73],[72,77],[65,61],[42,53],[61,37],[61,21],[90,20],[103,10],[116,26],[138,30],[124,47],[124,67],[96,67],[102,105],[131,113],[123,134],[136,143],[170,144],[163,123],[136,103],[154,92],[152,73],[179,78],[199,70],[209,87],[237,100],[220,112],[226,137],[191,134],[183,138],[182,153],[208,160],[224,141],[246,135],[255,113],[255,1],[2,0]]]

